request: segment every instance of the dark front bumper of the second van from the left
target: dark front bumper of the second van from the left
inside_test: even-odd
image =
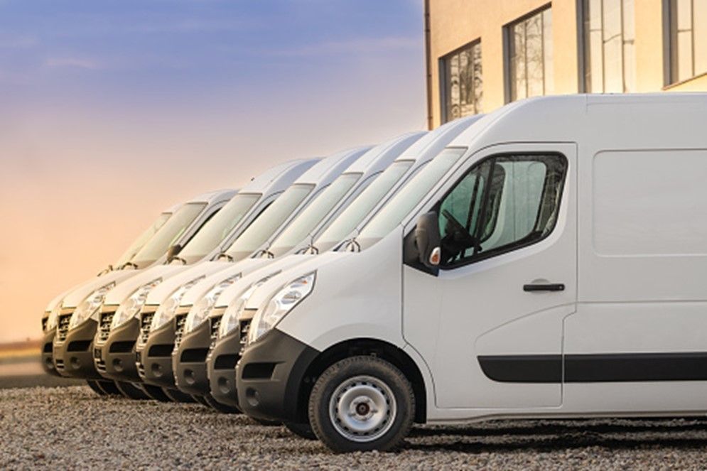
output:
[[[70,314],[68,315],[70,318]],[[66,314],[59,316],[59,327],[52,343],[54,367],[63,377],[102,379],[93,364],[93,337],[98,323],[85,320],[68,330]]]

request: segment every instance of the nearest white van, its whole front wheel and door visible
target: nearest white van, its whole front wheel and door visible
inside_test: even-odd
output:
[[[239,405],[336,451],[414,421],[707,413],[706,122],[707,94],[480,119],[351,251],[263,285]]]

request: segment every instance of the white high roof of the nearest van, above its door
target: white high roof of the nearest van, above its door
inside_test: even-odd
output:
[[[704,146],[707,93],[571,94],[507,104],[450,146],[585,141],[602,146]]]

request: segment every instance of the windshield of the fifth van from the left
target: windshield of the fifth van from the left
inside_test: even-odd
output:
[[[314,200],[273,241],[270,251],[275,256],[286,254],[302,242],[338,205],[361,178],[362,173],[344,173],[328,188],[320,191]]]

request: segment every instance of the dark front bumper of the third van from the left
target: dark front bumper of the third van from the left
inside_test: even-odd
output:
[[[135,364],[135,343],[140,335],[140,320],[132,318],[116,329],[109,329],[115,308],[117,306],[101,313],[99,332],[93,341],[93,361],[96,370],[104,378],[138,382],[140,377]]]

